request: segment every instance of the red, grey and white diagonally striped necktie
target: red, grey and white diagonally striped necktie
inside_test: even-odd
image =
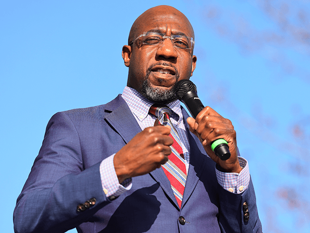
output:
[[[183,150],[180,146],[180,136],[176,132],[170,120],[172,110],[167,106],[154,104],[151,106],[149,112],[158,117],[155,121],[155,125],[161,124],[169,125],[171,127],[169,136],[173,139],[173,144],[170,146],[172,152],[168,156],[168,162],[162,165],[162,168],[171,183],[171,188],[179,207],[181,207],[187,172]]]

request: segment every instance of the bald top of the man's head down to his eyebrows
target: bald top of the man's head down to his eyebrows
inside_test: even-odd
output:
[[[128,44],[141,33],[149,30],[155,29],[166,33],[169,28],[169,22],[178,22],[173,24],[176,28],[173,28],[171,33],[182,34],[187,29],[190,33],[187,36],[195,37],[192,25],[182,12],[171,6],[161,5],[148,9],[136,19],[130,29]]]

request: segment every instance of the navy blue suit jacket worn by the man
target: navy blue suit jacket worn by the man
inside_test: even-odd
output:
[[[188,114],[182,112],[186,119]],[[242,194],[224,190],[217,183],[214,161],[185,124],[190,165],[180,209],[162,168],[134,177],[132,188],[115,200],[105,196],[101,161],[141,131],[121,95],[105,105],[55,114],[17,199],[16,233],[57,233],[75,227],[79,233],[261,232],[252,183]],[[96,203],[78,212],[78,204],[91,198]],[[249,221],[243,219],[244,202]]]

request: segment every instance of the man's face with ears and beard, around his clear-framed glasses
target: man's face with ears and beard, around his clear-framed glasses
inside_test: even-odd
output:
[[[194,37],[188,20],[171,11],[154,11],[144,17],[133,37],[135,39],[150,31],[164,33],[166,36],[184,34]],[[174,100],[174,84],[179,80],[189,79],[196,67],[196,56],[192,56],[192,52],[193,48],[186,50],[173,47],[169,38],[159,46],[141,45],[139,40],[131,46],[124,46],[123,58],[125,65],[129,67],[127,85],[155,102]]]

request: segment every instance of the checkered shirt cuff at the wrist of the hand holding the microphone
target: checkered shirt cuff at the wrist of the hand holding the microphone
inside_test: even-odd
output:
[[[250,182],[250,172],[248,169],[248,161],[242,157],[238,157],[239,164],[243,168],[240,173],[222,172],[216,166],[217,182],[226,190],[232,193],[242,193],[248,188]]]

